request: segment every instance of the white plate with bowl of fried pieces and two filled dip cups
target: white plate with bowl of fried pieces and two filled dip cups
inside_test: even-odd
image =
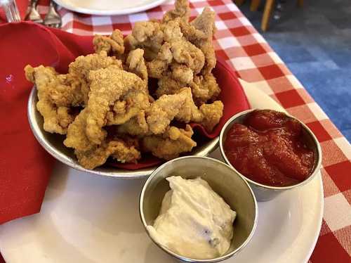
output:
[[[0,227],[7,262],[310,258],[323,215],[317,139],[216,59],[212,11],[188,16],[179,0],[128,36],[96,36],[66,74],[27,65],[29,123],[62,163],[41,212]]]

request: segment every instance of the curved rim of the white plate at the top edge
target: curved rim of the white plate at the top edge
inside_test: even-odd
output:
[[[142,6],[137,6],[133,8],[112,9],[112,10],[107,10],[107,9],[98,10],[93,8],[91,9],[91,8],[84,8],[84,7],[69,5],[69,2],[67,3],[67,1],[65,0],[53,0],[53,1],[55,1],[55,3],[58,4],[59,6],[62,6],[70,11],[84,13],[88,15],[127,15],[127,14],[138,13],[141,11],[154,8],[156,6],[159,6],[160,4],[163,4],[168,0],[154,0],[149,4],[143,4]]]

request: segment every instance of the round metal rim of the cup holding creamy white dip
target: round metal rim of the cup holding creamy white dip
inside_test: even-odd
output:
[[[161,245],[161,244],[157,243],[154,240],[154,238],[152,238],[152,236],[150,235],[149,231],[147,230],[147,222],[145,220],[144,212],[143,212],[143,201],[144,201],[144,195],[145,195],[145,191],[147,189],[147,186],[149,186],[150,181],[152,181],[152,179],[155,177],[155,174],[157,174],[157,172],[159,172],[161,169],[164,169],[164,167],[166,165],[169,165],[171,162],[178,162],[178,161],[181,162],[182,160],[185,160],[185,159],[204,159],[204,160],[206,160],[208,162],[216,162],[216,163],[218,163],[220,165],[225,165],[226,167],[231,169],[232,172],[234,174],[236,174],[236,176],[238,176],[240,179],[242,179],[242,181],[244,181],[244,184],[246,184],[247,188],[249,189],[249,193],[251,193],[251,197],[253,198],[253,204],[255,206],[255,218],[253,220],[253,226],[252,226],[251,232],[250,232],[249,236],[246,238],[246,240],[243,243],[241,243],[239,248],[237,248],[236,250],[233,250],[232,252],[228,253],[227,255],[223,255],[223,256],[220,256],[220,257],[214,257],[213,259],[194,259],[194,258],[191,258],[191,257],[184,257],[182,255],[177,254],[176,252],[173,252],[173,251],[169,250],[164,245]],[[258,202],[256,200],[256,195],[253,193],[253,190],[252,190],[251,186],[249,185],[249,183],[246,181],[246,179],[241,174],[239,174],[236,170],[234,170],[232,167],[230,167],[230,165],[227,165],[225,162],[221,162],[220,160],[217,160],[217,159],[214,159],[214,158],[210,158],[210,157],[206,157],[206,156],[190,155],[190,156],[184,156],[184,157],[175,158],[173,160],[169,160],[168,162],[165,162],[164,164],[160,165],[157,169],[154,170],[154,172],[152,172],[152,174],[150,174],[150,177],[147,178],[142,190],[140,191],[139,215],[140,215],[141,221],[143,222],[143,226],[144,226],[144,229],[145,229],[145,231],[147,233],[147,236],[149,236],[149,238],[152,240],[152,242],[154,244],[156,244],[159,248],[161,248],[161,250],[164,250],[164,252],[168,253],[168,255],[176,257],[177,259],[183,260],[185,262],[220,262],[222,260],[228,259],[228,258],[236,255],[243,248],[245,248],[246,245],[253,238],[253,234],[255,233],[256,228],[257,228],[257,224],[258,224]]]

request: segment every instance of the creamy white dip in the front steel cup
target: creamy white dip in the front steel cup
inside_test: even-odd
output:
[[[194,259],[225,254],[236,212],[201,178],[168,177],[159,216],[147,230],[169,250]]]

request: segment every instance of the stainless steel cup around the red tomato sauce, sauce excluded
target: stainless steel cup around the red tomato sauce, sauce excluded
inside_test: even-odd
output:
[[[245,110],[241,113],[238,113],[237,115],[234,115],[233,117],[231,117],[229,120],[227,120],[227,122],[225,123],[225,125],[223,126],[222,131],[220,131],[220,153],[222,154],[225,162],[227,162],[228,165],[230,165],[235,171],[237,171],[237,169],[235,169],[235,167],[232,166],[232,164],[230,163],[230,161],[227,159],[227,156],[225,155],[224,149],[223,149],[223,142],[225,141],[225,137],[227,136],[227,131],[230,129],[230,127],[232,127],[232,124],[234,123],[242,123],[246,117],[246,115],[248,115],[249,113],[251,113],[253,110],[256,109],[251,109],[251,110]],[[286,113],[284,113],[286,114]],[[316,138],[316,136],[314,136],[314,134],[312,133],[312,131],[300,120],[296,119],[296,117],[293,117],[289,114],[286,114],[287,116],[293,118],[294,120],[297,120],[298,122],[300,122],[300,124],[303,127],[303,136],[307,142],[307,146],[313,150],[314,152],[314,156],[315,156],[315,160],[314,160],[314,167],[312,170],[312,173],[310,175],[310,177],[307,177],[307,179],[305,179],[305,181],[300,182],[299,184],[294,184],[292,186],[284,186],[284,187],[278,187],[278,186],[267,186],[264,184],[259,184],[256,181],[253,181],[247,177],[245,177],[243,174],[241,174],[242,177],[244,177],[246,179],[246,181],[249,182],[251,188],[253,189],[253,192],[256,195],[256,198],[258,201],[267,201],[267,200],[271,200],[273,198],[275,198],[277,195],[279,195],[280,193],[286,191],[286,190],[291,190],[291,189],[295,189],[298,188],[300,186],[303,186],[305,184],[307,184],[309,181],[311,181],[319,172],[319,169],[321,167],[321,163],[322,163],[322,149],[321,146],[319,145],[319,142]],[[240,174],[239,171],[237,171],[237,173]]]

